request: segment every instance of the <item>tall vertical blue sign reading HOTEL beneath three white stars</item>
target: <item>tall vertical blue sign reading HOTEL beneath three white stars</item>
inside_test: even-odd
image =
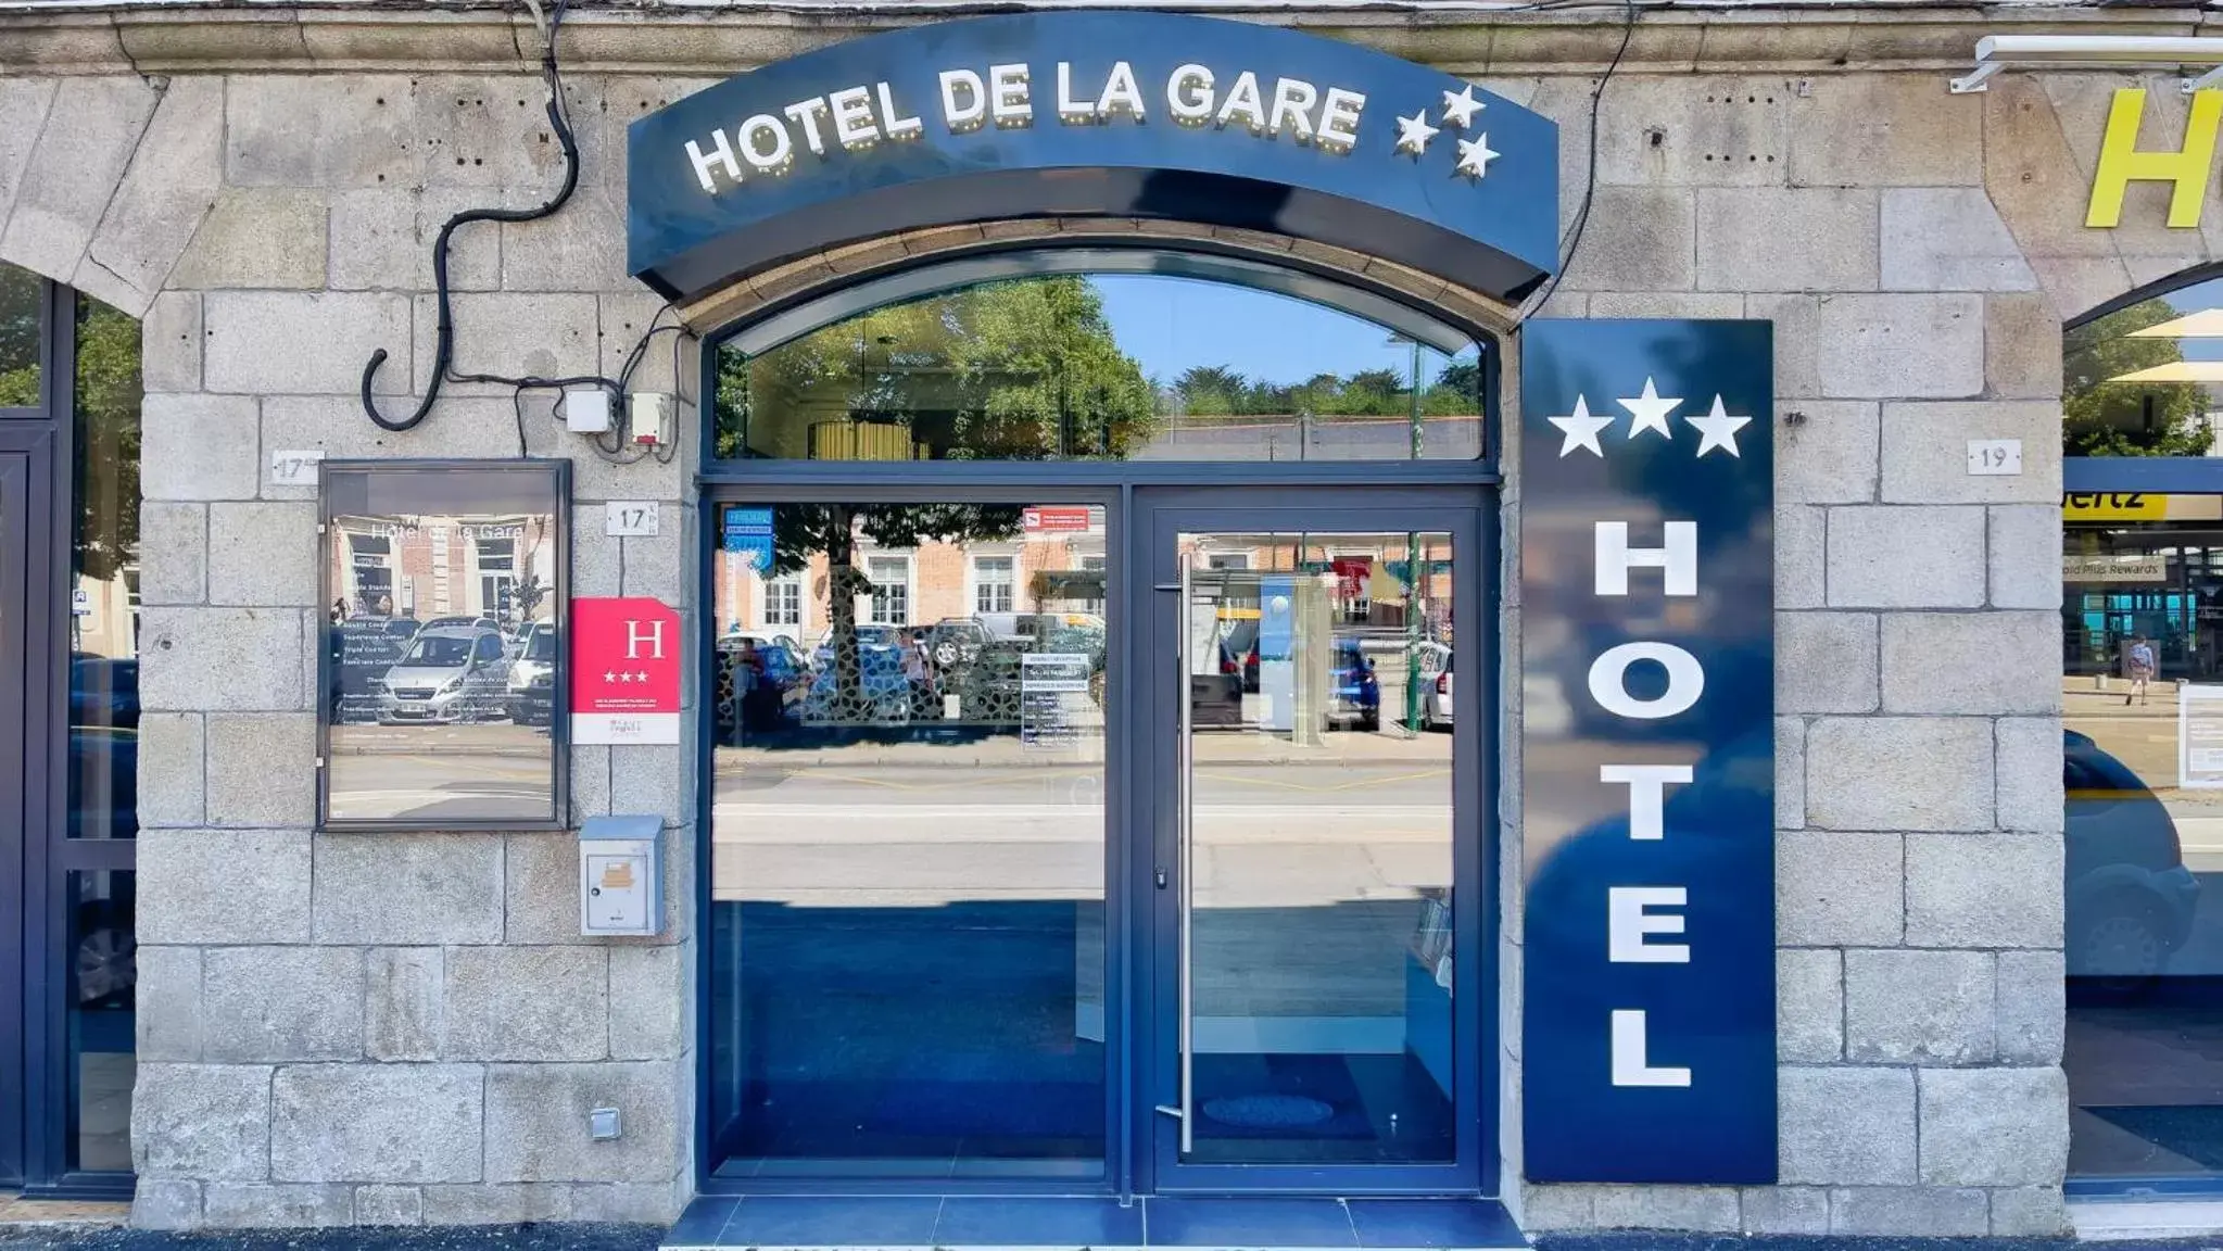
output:
[[[1770,324],[1521,340],[1523,1171],[1774,1182]]]

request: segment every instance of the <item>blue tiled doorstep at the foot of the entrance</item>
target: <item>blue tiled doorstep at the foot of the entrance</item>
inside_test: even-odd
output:
[[[747,1195],[698,1198],[667,1249],[754,1247],[1527,1247],[1487,1200]]]

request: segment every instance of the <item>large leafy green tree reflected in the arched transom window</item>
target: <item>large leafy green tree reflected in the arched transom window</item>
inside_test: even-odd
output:
[[[1152,436],[1152,391],[1085,278],[989,282],[874,309],[762,356],[718,358],[718,409],[767,424],[876,422],[920,456],[1125,458]],[[742,447],[720,422],[718,456]]]

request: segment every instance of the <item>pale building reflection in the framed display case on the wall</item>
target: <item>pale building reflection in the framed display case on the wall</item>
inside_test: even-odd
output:
[[[336,518],[333,524],[340,540],[331,544],[327,576],[347,616],[487,616],[502,624],[549,616],[556,544],[545,518]]]

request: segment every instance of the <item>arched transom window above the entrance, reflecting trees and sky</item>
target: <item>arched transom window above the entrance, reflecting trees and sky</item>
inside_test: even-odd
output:
[[[1483,358],[1292,296],[1011,278],[718,349],[718,458],[1472,460]]]

